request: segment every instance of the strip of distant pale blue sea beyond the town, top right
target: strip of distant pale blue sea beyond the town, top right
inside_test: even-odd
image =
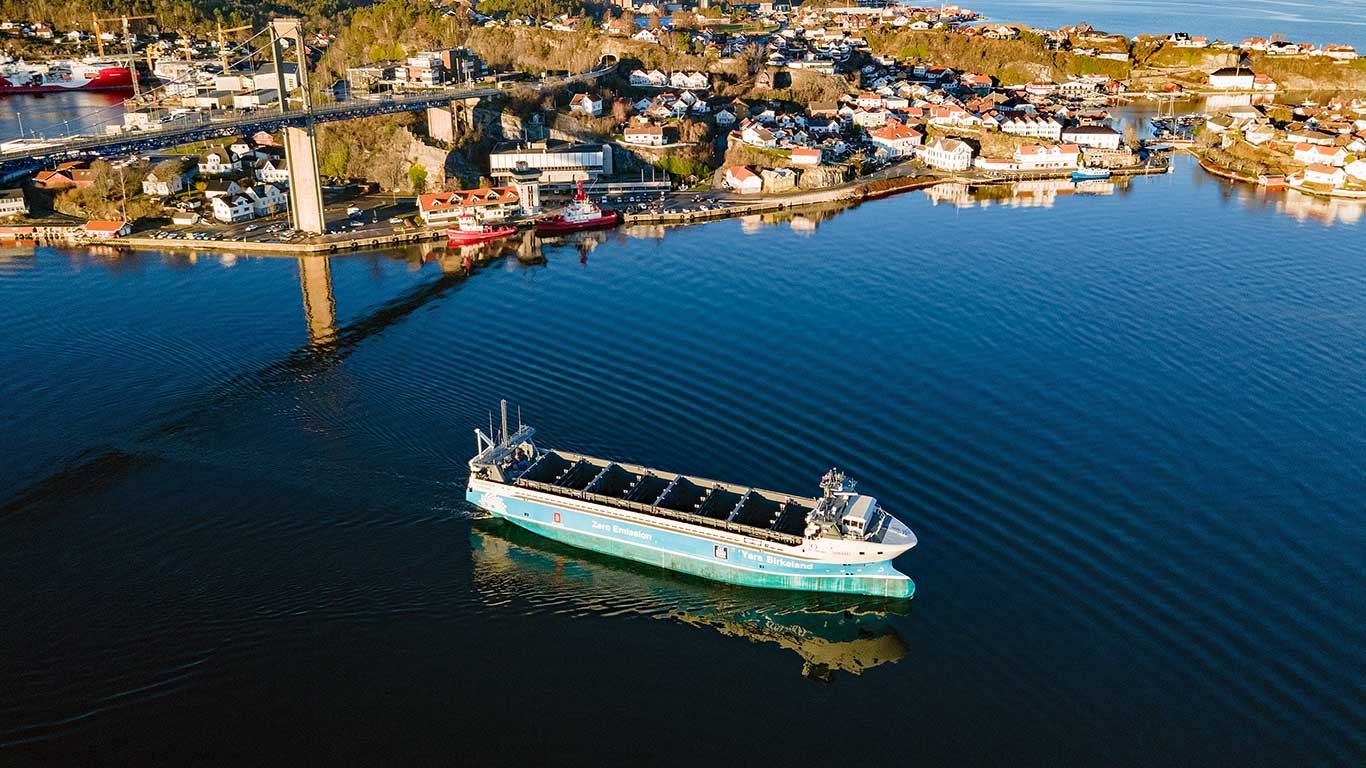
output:
[[[999,22],[1059,27],[1086,22],[1117,34],[1188,31],[1238,42],[1281,34],[1366,48],[1366,0],[963,0]]]

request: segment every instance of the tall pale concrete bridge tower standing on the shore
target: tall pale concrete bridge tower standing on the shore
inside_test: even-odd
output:
[[[275,63],[280,112],[290,111],[290,89],[284,71],[284,41],[295,52],[303,127],[284,128],[284,163],[290,169],[290,224],[299,231],[321,235],[328,223],[322,212],[322,174],[318,171],[317,133],[313,123],[313,93],[309,90],[309,60],[299,19],[270,20],[270,59]]]

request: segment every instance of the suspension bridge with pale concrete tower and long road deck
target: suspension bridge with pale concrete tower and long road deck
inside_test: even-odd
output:
[[[260,42],[257,42],[260,40]],[[326,231],[322,206],[322,184],[318,172],[317,135],[318,123],[352,120],[396,112],[413,112],[430,107],[448,105],[458,122],[470,122],[473,105],[481,98],[489,98],[501,92],[500,83],[466,83],[454,87],[440,87],[402,94],[376,94],[370,98],[314,104],[309,86],[309,60],[303,30],[299,19],[272,19],[251,37],[236,44],[236,51],[246,51],[235,61],[227,61],[224,74],[234,67],[251,66],[268,59],[275,75],[275,108],[250,111],[223,111],[214,113],[190,113],[190,119],[160,123],[149,128],[123,130],[123,115],[128,107],[154,105],[176,87],[194,86],[180,79],[172,79],[143,90],[120,102],[87,111],[67,124],[75,123],[76,134],[60,137],[3,137],[0,142],[7,150],[0,152],[0,176],[12,178],[31,172],[55,160],[101,159],[137,154],[168,146],[193,143],[243,133],[281,131],[285,152],[285,165],[290,175],[288,200],[290,223],[295,230],[322,234]],[[292,61],[290,61],[292,53]],[[292,64],[298,75],[287,77],[287,64]],[[557,83],[593,81],[612,71],[615,61],[587,72],[555,78]],[[191,77],[191,75],[186,75]],[[288,87],[294,79],[294,87]],[[501,83],[505,86],[505,83]],[[541,89],[545,81],[523,81],[520,85]],[[111,130],[117,126],[117,130]]]

